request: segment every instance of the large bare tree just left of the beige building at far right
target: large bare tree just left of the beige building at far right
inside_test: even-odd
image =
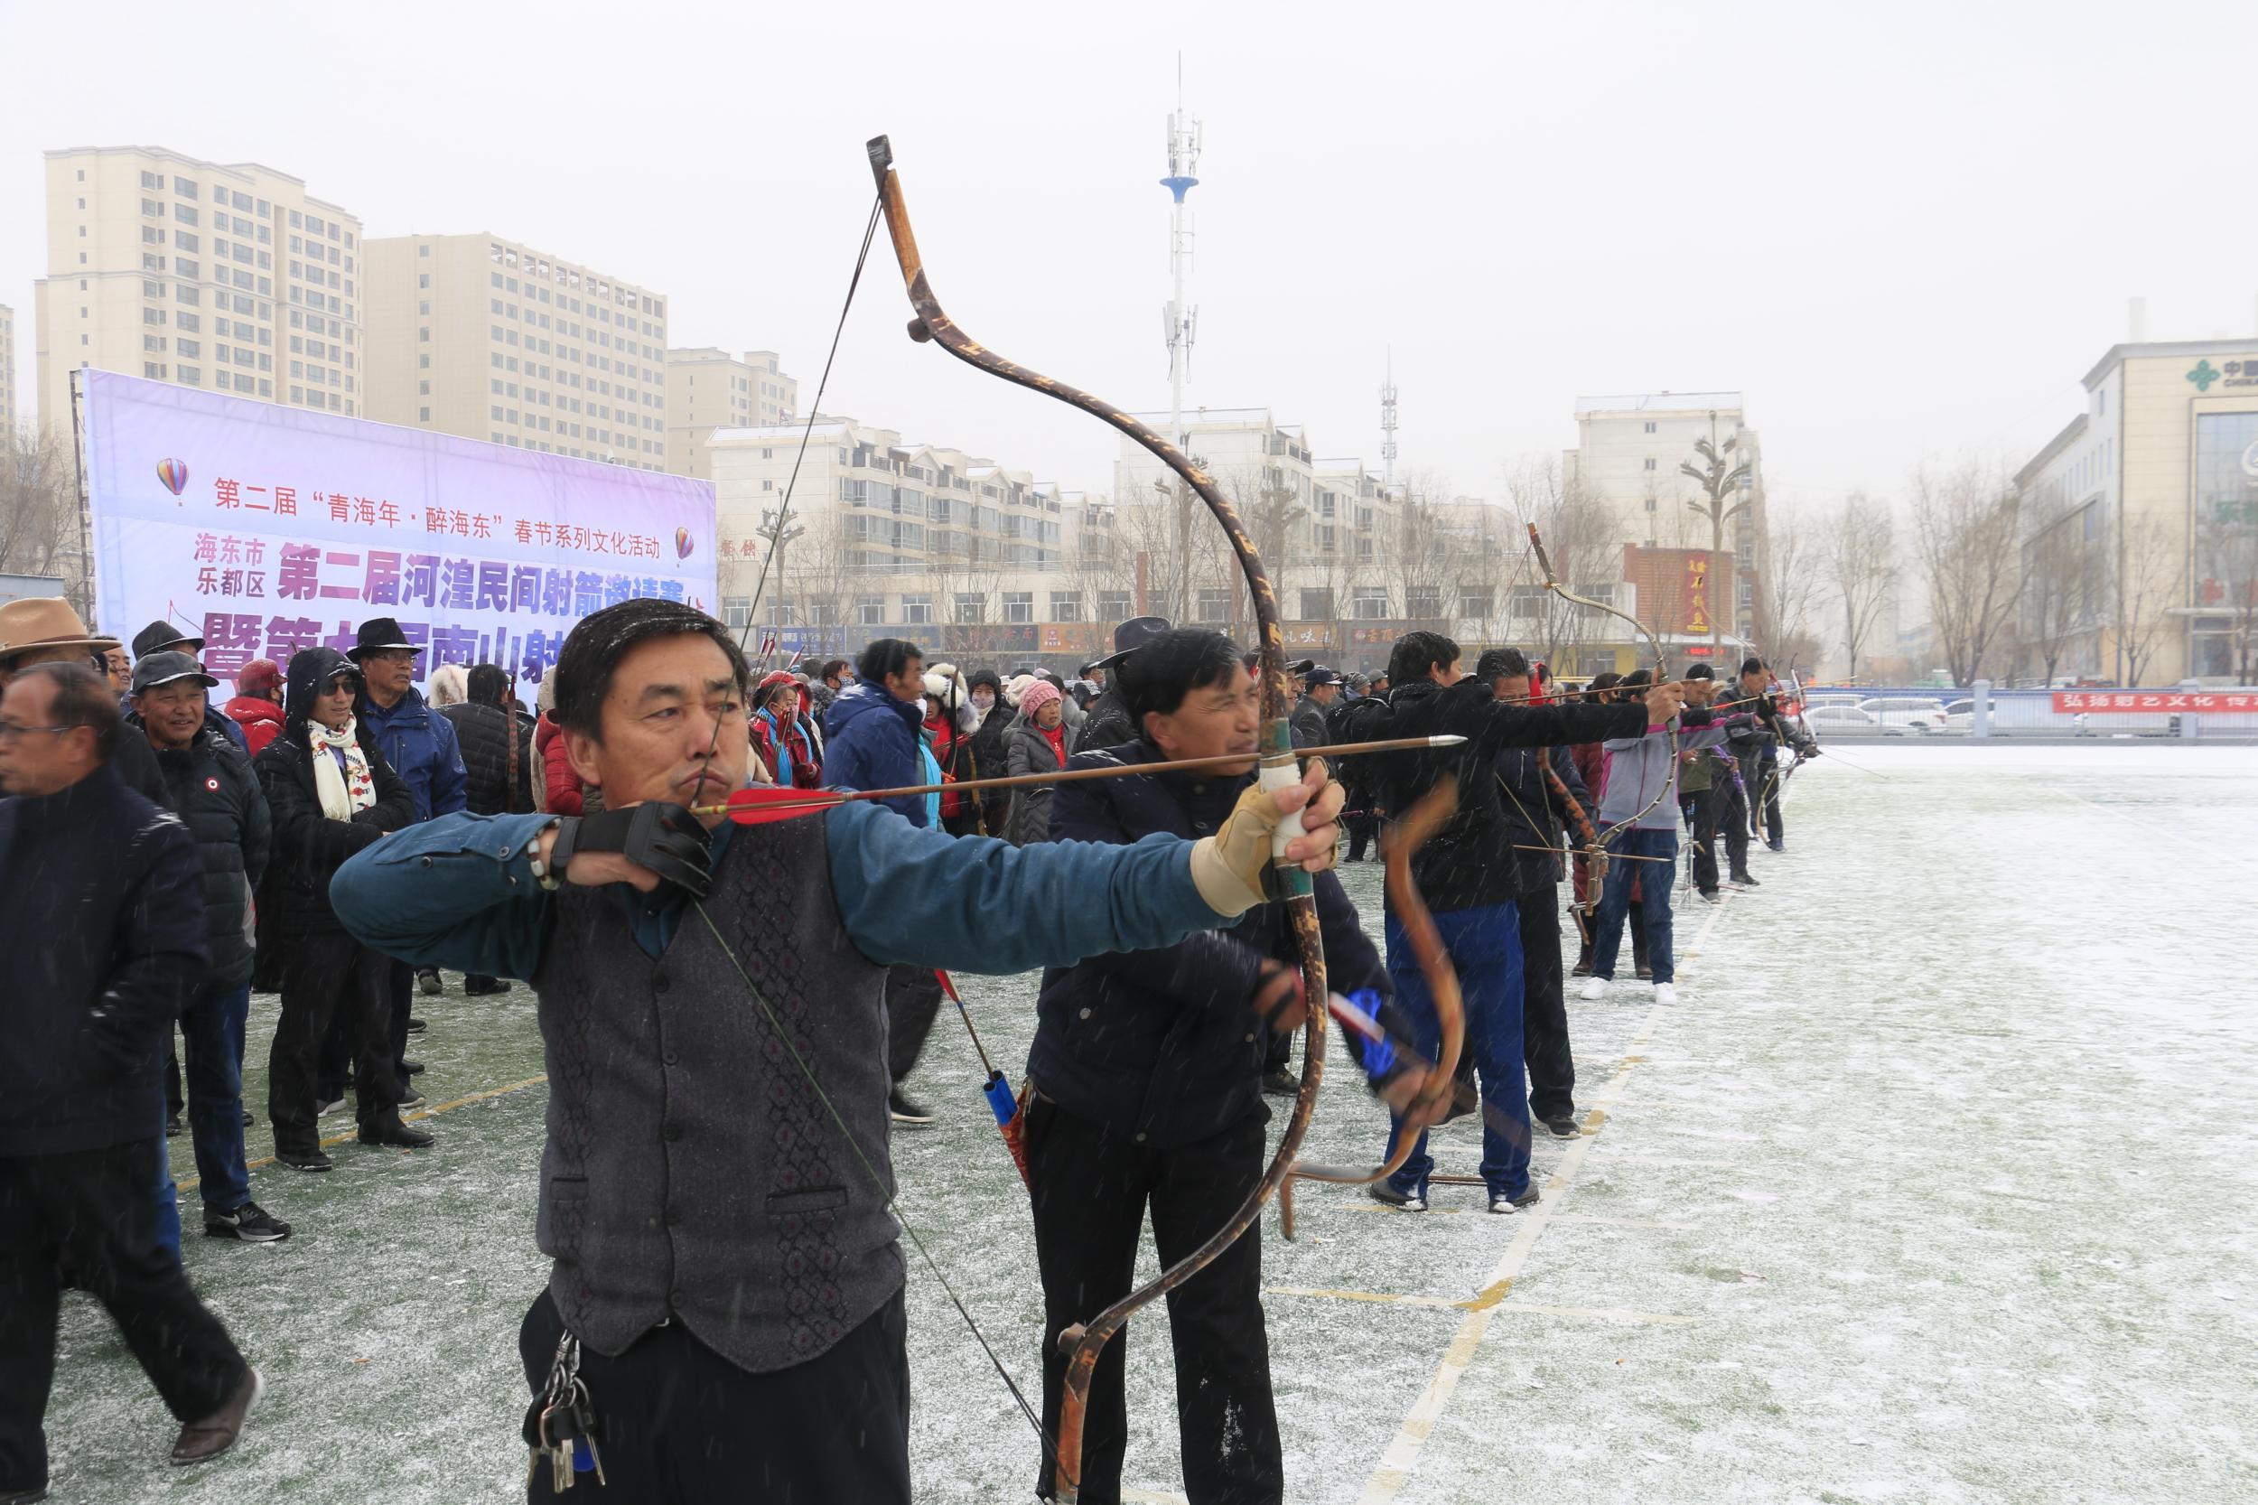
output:
[[[1971,685],[2012,630],[2023,597],[2014,488],[1983,461],[1962,461],[1951,470],[1917,468],[1913,547],[1944,667],[1955,685]]]

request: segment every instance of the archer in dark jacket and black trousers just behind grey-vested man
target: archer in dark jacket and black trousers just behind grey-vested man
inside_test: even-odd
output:
[[[1115,669],[1131,725],[1145,737],[1070,759],[1073,768],[1246,752],[1260,716],[1255,685],[1219,633],[1183,628],[1147,642]],[[1231,816],[1253,771],[1059,784],[1052,841],[1127,845],[1154,834],[1208,836]],[[1319,872],[1330,983],[1386,994],[1357,911]],[[1258,904],[1217,931],[1158,951],[1093,956],[1043,972],[1027,1058],[1027,1180],[1043,1270],[1043,1428],[1059,1421],[1059,1333],[1129,1293],[1147,1207],[1161,1263],[1222,1227],[1262,1175],[1262,1055],[1255,1012],[1264,988],[1298,960],[1283,904]],[[1262,1243],[1246,1229],[1167,1299],[1176,1349],[1176,1419],[1185,1494],[1194,1500],[1278,1500],[1285,1464],[1262,1329]],[[1129,1444],[1122,1345],[1109,1342],[1091,1381],[1082,1437],[1084,1498],[1120,1498]],[[1039,1494],[1052,1494],[1045,1449]]]

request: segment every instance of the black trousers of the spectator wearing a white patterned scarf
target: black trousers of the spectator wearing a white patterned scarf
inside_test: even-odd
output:
[[[393,967],[343,931],[285,942],[282,1017],[266,1055],[266,1121],[278,1152],[305,1155],[321,1146],[314,1091],[332,1019],[352,1044],[352,1101],[361,1125],[400,1114],[388,1012]]]

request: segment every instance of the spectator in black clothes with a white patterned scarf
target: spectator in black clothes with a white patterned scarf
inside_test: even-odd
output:
[[[330,908],[330,879],[345,859],[388,832],[415,823],[415,800],[377,750],[377,737],[352,719],[359,671],[336,649],[300,649],[287,671],[282,734],[257,757],[260,786],[273,816],[275,942],[282,947],[282,1017],[266,1064],[266,1116],[275,1130],[275,1159],[298,1171],[327,1171],[316,1116],[316,1053],[330,1017],[345,1010],[352,1039],[352,1085],[364,1143],[431,1143],[400,1121],[400,1080],[391,1044],[391,963],[345,933]],[[339,696],[345,696],[339,703]],[[339,716],[339,712],[343,712]],[[321,714],[352,728],[352,741],[373,782],[373,800],[327,814],[314,757]]]

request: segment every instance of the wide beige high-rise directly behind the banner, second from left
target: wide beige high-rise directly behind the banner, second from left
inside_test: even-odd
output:
[[[499,235],[366,246],[368,416],[666,466],[666,296]]]

